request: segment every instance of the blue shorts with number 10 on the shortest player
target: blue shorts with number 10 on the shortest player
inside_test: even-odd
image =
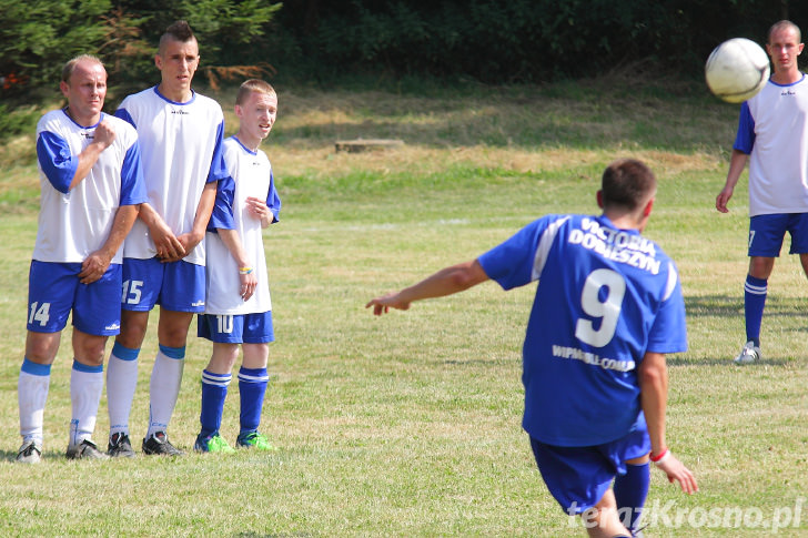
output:
[[[196,336],[219,344],[265,344],[275,341],[272,312],[256,314],[200,314]]]

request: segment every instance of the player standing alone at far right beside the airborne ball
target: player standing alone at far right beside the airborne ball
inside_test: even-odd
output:
[[[727,213],[749,162],[749,272],[744,283],[746,344],[736,364],[760,359],[760,325],[768,280],[791,236],[790,254],[799,254],[808,275],[808,81],[797,59],[802,52],[799,28],[779,21],[769,29],[766,50],[774,73],[764,89],[740,106],[727,181],[716,209]]]

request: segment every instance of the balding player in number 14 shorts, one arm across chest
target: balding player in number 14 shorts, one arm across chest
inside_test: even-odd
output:
[[[62,70],[62,110],[37,124],[41,211],[29,273],[28,335],[18,392],[22,446],[17,461],[42,455],[51,365],[72,312],[72,418],[68,458],[103,459],[92,441],[103,389],[104,346],[120,329],[123,240],[145,201],[138,134],[101,112],[107,71],[79,55]]]

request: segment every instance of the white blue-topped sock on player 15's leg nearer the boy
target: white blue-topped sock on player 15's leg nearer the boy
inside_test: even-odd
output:
[[[149,384],[149,430],[148,439],[155,432],[168,432],[174,405],[180,395],[182,370],[185,366],[184,347],[160,346],[154,358],[151,382]]]

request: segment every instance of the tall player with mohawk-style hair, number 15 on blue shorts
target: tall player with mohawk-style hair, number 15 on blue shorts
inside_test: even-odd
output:
[[[222,159],[224,115],[213,99],[191,89],[199,44],[185,21],[160,39],[154,63],[158,85],[129,95],[115,115],[140,136],[149,202],[124,243],[121,334],[107,374],[111,456],[134,456],[129,416],[138,357],[149,313],[160,305],[159,349],[150,382],[147,455],[181,455],[168,427],[184,368],[185,343],[194,313],[205,306],[204,235],[216,195],[228,176]]]

